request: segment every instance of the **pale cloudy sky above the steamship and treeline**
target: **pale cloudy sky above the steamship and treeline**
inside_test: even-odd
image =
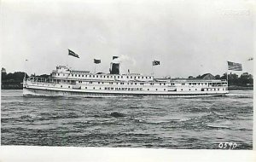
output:
[[[28,74],[57,65],[109,72],[117,55],[122,73],[221,75],[227,61],[253,73],[254,7],[250,0],[3,0],[1,66]],[[152,67],[154,60],[160,66]]]

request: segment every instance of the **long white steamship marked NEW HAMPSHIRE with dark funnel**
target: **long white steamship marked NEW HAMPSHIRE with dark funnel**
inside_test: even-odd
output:
[[[229,93],[222,79],[154,78],[138,73],[120,74],[120,63],[111,63],[109,73],[77,71],[57,66],[49,78],[29,77],[23,95],[66,95],[84,97],[198,97]]]

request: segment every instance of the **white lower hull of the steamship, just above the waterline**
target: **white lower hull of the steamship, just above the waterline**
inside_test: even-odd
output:
[[[206,97],[206,96],[223,96],[223,93],[202,93],[202,92],[166,92],[166,93],[129,93],[129,92],[110,92],[110,91],[84,91],[84,90],[46,90],[24,88],[24,96],[79,96],[79,97],[163,97],[163,98],[176,98],[176,97]]]

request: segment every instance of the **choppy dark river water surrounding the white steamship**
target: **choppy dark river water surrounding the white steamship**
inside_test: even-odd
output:
[[[2,145],[253,149],[253,90],[205,98],[23,97],[2,90]]]

